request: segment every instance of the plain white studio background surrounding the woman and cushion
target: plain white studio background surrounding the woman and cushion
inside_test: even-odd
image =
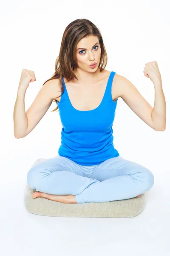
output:
[[[170,3],[168,0],[6,0],[0,6],[0,251],[11,255],[170,255]],[[154,86],[145,63],[157,61],[167,105],[165,131],[154,131],[118,99],[113,124],[120,156],[153,172],[144,211],[133,218],[51,218],[26,211],[27,172],[38,158],[58,154],[59,112],[51,107],[27,137],[14,137],[13,111],[23,68],[36,81],[25,96],[26,111],[55,72],[65,27],[91,20],[102,33],[106,70],[129,79],[153,107]],[[42,102],[43,104],[43,102]],[[50,231],[49,231],[50,230]]]

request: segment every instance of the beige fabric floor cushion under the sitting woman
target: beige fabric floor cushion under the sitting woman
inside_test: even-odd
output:
[[[45,160],[37,159],[36,163]],[[135,217],[144,209],[144,193],[139,197],[110,202],[92,202],[83,204],[64,204],[46,198],[32,198],[36,192],[28,183],[24,193],[26,210],[33,214],[54,217]]]

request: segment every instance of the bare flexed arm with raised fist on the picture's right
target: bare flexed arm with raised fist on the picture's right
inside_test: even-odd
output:
[[[124,76],[115,74],[115,85],[118,96],[136,113],[147,125],[155,131],[164,131],[166,128],[166,103],[162,90],[161,74],[156,61],[145,64],[144,76],[153,81],[155,88],[154,107],[147,102],[136,87]],[[116,80],[115,80],[116,79]]]

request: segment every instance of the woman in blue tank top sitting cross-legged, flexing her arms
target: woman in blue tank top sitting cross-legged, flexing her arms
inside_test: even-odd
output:
[[[158,122],[156,110],[151,116],[153,108],[133,84],[105,70],[106,64],[99,29],[87,19],[78,19],[66,27],[56,71],[26,113],[21,102],[35,74],[23,70],[14,109],[15,137],[29,134],[53,100],[57,103],[53,111],[59,109],[63,126],[58,155],[28,171],[27,181],[37,190],[33,198],[65,204],[108,202],[139,197],[152,188],[152,172],[124,159],[114,148],[112,125],[118,98],[156,131],[164,130],[164,120]],[[147,69],[144,74],[149,77]]]

